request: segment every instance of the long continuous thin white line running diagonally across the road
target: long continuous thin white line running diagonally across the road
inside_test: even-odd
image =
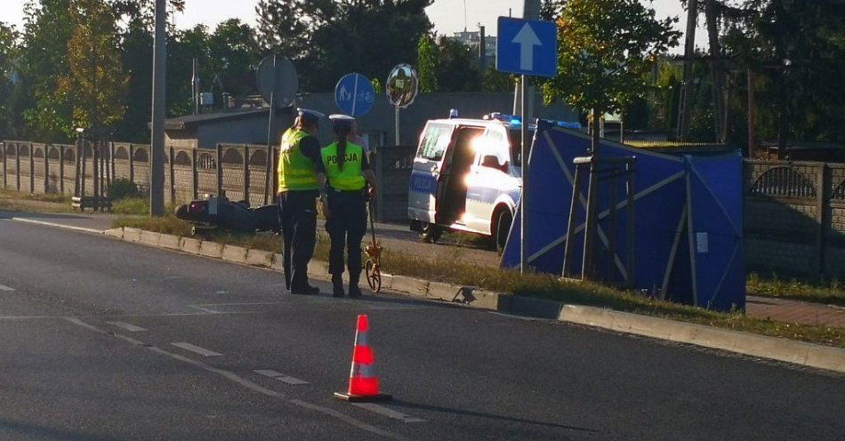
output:
[[[79,320],[78,318],[68,318],[68,321],[70,321],[71,323],[74,323],[76,325],[80,325],[80,326],[83,326],[85,328],[88,328],[88,329],[90,329],[90,330],[92,330],[96,333],[109,334],[106,331],[104,331],[104,330],[102,330],[102,329],[100,329],[96,326],[88,325],[87,323],[84,323],[82,320]],[[133,339],[130,339],[129,337],[124,337],[124,336],[119,335],[119,334],[113,334],[113,335],[115,335],[118,338],[122,338],[125,341],[133,342],[132,341]],[[137,343],[133,342],[133,344],[136,344],[136,345],[139,344],[139,343],[141,343],[141,342],[140,341],[138,341]],[[240,386],[242,386],[246,389],[253,390],[254,392],[258,392],[258,393],[266,395],[268,397],[277,398],[277,399],[285,401],[286,403],[289,403],[291,405],[297,405],[297,406],[302,407],[304,409],[310,409],[314,412],[322,413],[322,414],[324,414],[328,417],[332,417],[336,420],[343,421],[347,424],[350,424],[351,426],[357,427],[358,429],[366,430],[367,432],[373,433],[375,435],[379,435],[379,436],[382,436],[382,437],[388,437],[390,439],[396,439],[397,441],[409,441],[408,438],[403,437],[403,436],[401,436],[397,433],[393,433],[393,432],[389,432],[389,431],[384,430],[384,429],[377,428],[375,426],[367,424],[364,421],[360,421],[358,419],[352,418],[345,413],[337,412],[334,409],[331,409],[329,407],[322,406],[322,405],[314,405],[314,404],[311,404],[307,401],[302,401],[301,399],[295,399],[295,398],[288,397],[281,392],[277,392],[276,390],[264,388],[261,385],[254,383],[253,381],[249,381],[249,380],[245,379],[244,377],[237,375],[237,373],[233,373],[231,371],[226,371],[226,370],[223,370],[223,369],[218,369],[216,367],[213,367],[212,365],[206,365],[205,363],[198,361],[198,360],[195,360],[193,358],[183,357],[179,354],[174,354],[173,352],[168,352],[165,349],[157,348],[155,346],[148,346],[147,349],[157,353],[158,355],[162,355],[162,356],[165,356],[165,357],[171,357],[174,360],[178,360],[178,361],[181,361],[182,363],[187,363],[188,365],[195,366],[199,369],[204,370],[205,372],[215,373],[217,375],[220,375],[221,377],[223,377],[223,378],[225,378],[229,381],[235,382],[235,383],[239,384]]]

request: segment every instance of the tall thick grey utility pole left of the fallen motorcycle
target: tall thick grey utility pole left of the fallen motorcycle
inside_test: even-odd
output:
[[[153,51],[152,155],[149,161],[149,214],[165,214],[165,76],[167,75],[166,0],[156,0],[156,36]],[[220,166],[220,164],[217,164]]]

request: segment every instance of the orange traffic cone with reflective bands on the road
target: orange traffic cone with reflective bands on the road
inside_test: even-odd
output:
[[[375,376],[375,357],[373,349],[366,344],[366,332],[369,331],[366,315],[358,316],[355,330],[355,347],[352,349],[352,371],[350,387],[347,393],[335,392],[334,397],[355,403],[364,401],[385,401],[390,395],[379,393],[379,378]]]

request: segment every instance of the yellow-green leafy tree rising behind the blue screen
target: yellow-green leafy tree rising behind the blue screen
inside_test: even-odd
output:
[[[657,20],[639,0],[568,0],[558,16],[558,76],[543,84],[543,96],[592,110],[596,126],[648,90],[644,74],[680,36],[674,19]]]

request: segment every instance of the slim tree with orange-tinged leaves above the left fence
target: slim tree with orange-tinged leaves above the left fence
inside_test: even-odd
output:
[[[73,108],[68,137],[75,127],[90,128],[103,137],[125,113],[128,76],[121,63],[117,17],[103,0],[75,0],[74,29],[68,41],[68,72],[60,76],[56,100]]]

